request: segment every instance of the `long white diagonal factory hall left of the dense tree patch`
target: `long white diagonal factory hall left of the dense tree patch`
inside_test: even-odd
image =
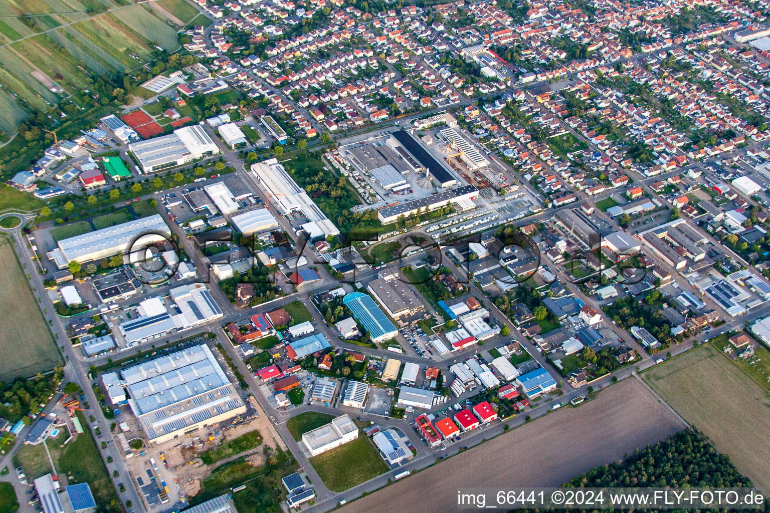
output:
[[[296,185],[277,158],[253,164],[249,173],[268,196],[269,202],[276,205],[283,215],[301,212],[307,218],[308,222],[302,225],[302,229],[310,238],[340,235],[340,230],[313,203],[305,189]]]

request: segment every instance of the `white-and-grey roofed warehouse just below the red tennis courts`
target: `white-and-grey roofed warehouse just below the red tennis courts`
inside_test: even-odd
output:
[[[199,158],[218,155],[219,148],[199,125],[177,128],[169,135],[132,142],[131,152],[144,173],[185,165]]]

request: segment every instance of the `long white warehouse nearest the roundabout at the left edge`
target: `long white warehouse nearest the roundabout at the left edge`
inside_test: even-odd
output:
[[[166,237],[159,233],[166,234]],[[57,243],[59,247],[48,253],[48,258],[55,261],[56,265],[62,269],[71,261],[83,263],[100,260],[117,255],[119,252],[126,255],[129,251],[136,252],[142,247],[170,237],[171,231],[163,218],[159,214],[150,215],[121,225],[62,239]]]

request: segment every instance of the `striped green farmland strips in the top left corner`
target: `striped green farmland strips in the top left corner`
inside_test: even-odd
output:
[[[26,117],[24,102],[37,110],[49,108],[45,101],[59,102],[59,96],[49,90],[54,83],[68,93],[75,92],[88,86],[90,72],[102,75],[137,68],[156,57],[155,45],[169,52],[178,49],[176,29],[169,18],[184,25],[199,13],[185,0],[162,3],[166,8],[129,5],[106,13],[121,4],[113,0],[0,0],[4,14],[35,15],[29,18],[32,27],[21,18],[0,19],[0,45],[8,44],[0,48],[0,85],[4,92],[18,95],[0,95],[0,129],[8,135],[15,132]],[[104,14],[95,15],[99,12]],[[43,31],[52,32],[39,34]]]

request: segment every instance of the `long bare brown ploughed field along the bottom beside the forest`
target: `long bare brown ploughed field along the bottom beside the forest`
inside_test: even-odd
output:
[[[457,487],[559,486],[684,426],[634,378],[353,501],[341,513],[457,511]],[[397,473],[393,471],[393,474]]]

